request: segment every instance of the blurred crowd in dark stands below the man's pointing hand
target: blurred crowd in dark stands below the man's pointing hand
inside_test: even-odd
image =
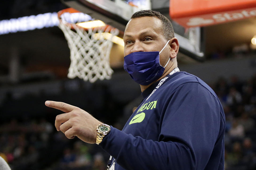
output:
[[[0,156],[12,170],[103,170],[108,159],[98,146],[67,139],[44,118],[1,125]]]

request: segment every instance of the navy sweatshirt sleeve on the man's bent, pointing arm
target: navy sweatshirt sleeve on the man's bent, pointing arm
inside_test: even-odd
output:
[[[125,169],[203,169],[218,138],[219,107],[201,84],[185,83],[163,105],[158,141],[111,127],[100,145]]]

